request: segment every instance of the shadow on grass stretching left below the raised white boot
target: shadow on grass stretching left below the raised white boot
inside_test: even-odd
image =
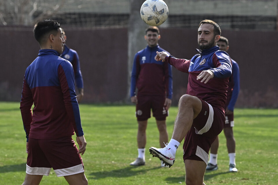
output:
[[[160,167],[139,169],[137,166],[128,166],[122,169],[116,169],[111,171],[97,171],[89,174],[89,179],[102,179],[105,177],[131,177],[138,174],[146,173],[150,170],[159,169]],[[139,170],[138,170],[139,169]]]

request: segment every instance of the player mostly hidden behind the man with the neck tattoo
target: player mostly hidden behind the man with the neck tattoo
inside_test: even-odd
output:
[[[65,41],[67,41],[67,36],[65,34],[65,31],[63,28],[61,29],[63,31],[63,38]],[[78,93],[76,94],[77,101],[78,103],[80,103],[80,101],[84,96],[84,86],[83,86],[83,78],[80,70],[79,56],[75,50],[70,49],[69,47],[67,47],[67,45],[65,45],[63,49],[63,53],[61,54],[60,57],[68,60],[72,64],[74,70],[76,89],[78,90]]]

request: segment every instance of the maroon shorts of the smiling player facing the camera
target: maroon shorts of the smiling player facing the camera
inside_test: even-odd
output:
[[[138,121],[145,121],[151,117],[151,109],[153,117],[158,121],[166,119],[168,110],[165,109],[164,96],[137,96],[136,117]]]

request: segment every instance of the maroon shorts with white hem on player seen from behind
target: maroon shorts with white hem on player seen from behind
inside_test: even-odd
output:
[[[56,139],[29,138],[26,173],[49,175],[51,168],[58,177],[84,172],[78,149],[71,136]]]

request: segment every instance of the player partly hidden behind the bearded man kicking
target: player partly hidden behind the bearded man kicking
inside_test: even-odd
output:
[[[225,37],[220,37],[219,41],[216,43],[219,46],[220,50],[228,51],[229,50],[229,41]],[[237,172],[235,167],[235,138],[233,136],[233,126],[234,126],[234,107],[235,102],[237,101],[239,93],[239,67],[237,62],[232,59],[233,70],[228,83],[228,92],[227,92],[227,102],[225,104],[225,115],[226,122],[224,126],[224,134],[226,137],[226,145],[228,149],[228,156],[230,158],[229,162],[229,171]],[[206,166],[206,170],[217,170],[217,150],[219,146],[218,136],[211,145],[211,153],[209,164]]]

